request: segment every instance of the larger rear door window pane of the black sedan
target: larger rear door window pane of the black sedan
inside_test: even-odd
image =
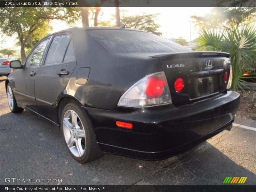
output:
[[[44,65],[62,63],[70,39],[68,34],[53,37]]]

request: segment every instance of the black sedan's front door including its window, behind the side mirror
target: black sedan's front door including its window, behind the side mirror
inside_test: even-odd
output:
[[[20,69],[15,77],[15,98],[25,107],[38,112],[35,100],[35,76],[41,65],[45,48],[50,38],[42,40],[29,54],[25,66]]]

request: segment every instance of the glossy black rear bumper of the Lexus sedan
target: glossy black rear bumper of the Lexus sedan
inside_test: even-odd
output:
[[[157,160],[195,147],[226,129],[234,121],[240,95],[228,91],[218,97],[175,108],[86,108],[100,149],[106,153]],[[133,124],[132,130],[116,121]]]

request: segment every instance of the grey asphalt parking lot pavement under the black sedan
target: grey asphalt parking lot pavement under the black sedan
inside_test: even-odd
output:
[[[79,164],[69,155],[52,124],[28,111],[12,114],[7,104],[5,77],[0,77],[0,185],[5,178],[61,179],[61,185],[221,185],[226,177],[248,177],[256,184],[256,131],[233,127],[198,147],[161,161],[104,155]],[[237,119],[236,125],[256,127]]]

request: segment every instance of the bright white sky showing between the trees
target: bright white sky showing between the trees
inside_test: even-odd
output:
[[[192,15],[204,16],[209,13],[212,7],[121,7],[120,9],[126,10],[125,16],[141,14],[143,12],[149,14],[160,13],[156,18],[156,22],[161,25],[159,31],[163,33],[165,38],[178,38],[183,37],[189,42],[190,38],[190,23],[191,23],[191,40],[198,37],[198,30],[195,28],[194,23],[190,22]],[[102,7],[99,20],[107,21],[115,14],[115,7]],[[93,24],[93,21],[91,21]],[[53,21],[53,32],[57,32],[69,26],[62,21]],[[74,24],[74,27],[82,27],[81,21]],[[8,37],[8,40],[1,44],[2,48],[11,48],[12,42],[15,42],[15,36]],[[16,41],[17,42],[17,41]],[[16,49],[19,49],[17,47]]]

